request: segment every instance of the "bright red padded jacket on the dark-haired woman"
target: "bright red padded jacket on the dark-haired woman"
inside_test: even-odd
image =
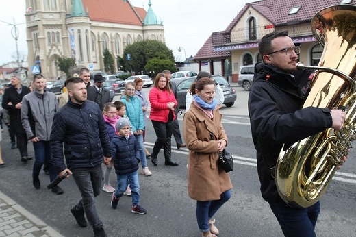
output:
[[[157,87],[153,87],[149,91],[149,103],[151,105],[149,119],[166,123],[168,121],[168,114],[170,111],[170,109],[167,108],[168,102],[175,103],[175,106],[178,104],[172,90],[168,92],[167,90],[160,90]],[[174,112],[173,120],[175,120]]]

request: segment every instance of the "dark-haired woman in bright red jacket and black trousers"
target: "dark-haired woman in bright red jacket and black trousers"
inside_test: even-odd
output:
[[[158,73],[155,77],[155,84],[149,92],[149,103],[151,104],[149,118],[157,136],[151,153],[151,162],[155,166],[158,164],[157,155],[163,147],[164,164],[177,166],[178,163],[171,160],[171,136],[173,134],[173,121],[175,120],[174,110],[178,102],[172,90],[170,90],[166,74]]]

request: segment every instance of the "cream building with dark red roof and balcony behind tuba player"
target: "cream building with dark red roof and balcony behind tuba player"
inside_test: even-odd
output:
[[[322,46],[312,35],[315,14],[331,5],[351,4],[355,0],[262,0],[244,5],[224,31],[213,32],[194,56],[199,64],[209,62],[210,73],[220,66],[225,77],[238,80],[240,66],[262,62],[258,42],[266,34],[288,30],[294,45],[301,47],[299,62],[317,65]],[[216,65],[216,62],[219,62]]]

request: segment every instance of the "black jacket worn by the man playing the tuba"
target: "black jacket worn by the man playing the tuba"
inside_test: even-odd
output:
[[[281,201],[269,168],[276,165],[283,144],[287,149],[294,142],[331,127],[331,110],[301,109],[307,78],[294,78],[268,64],[256,64],[255,73],[249,115],[262,197]]]

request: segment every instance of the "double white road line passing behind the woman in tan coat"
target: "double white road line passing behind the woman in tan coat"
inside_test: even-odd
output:
[[[155,144],[152,142],[144,142],[145,147],[153,148],[153,145],[155,145]],[[189,150],[187,148],[181,148],[178,150],[177,148],[172,147],[173,153],[188,155],[188,151]],[[254,158],[246,158],[246,157],[237,156],[237,155],[233,155],[232,158],[233,158],[233,163],[257,167],[257,160]],[[343,176],[343,177],[339,177],[339,176]],[[344,177],[347,177],[347,178],[344,178]],[[344,173],[344,172],[336,171],[333,179],[338,180],[340,182],[356,184],[356,175],[352,174],[352,173]]]

